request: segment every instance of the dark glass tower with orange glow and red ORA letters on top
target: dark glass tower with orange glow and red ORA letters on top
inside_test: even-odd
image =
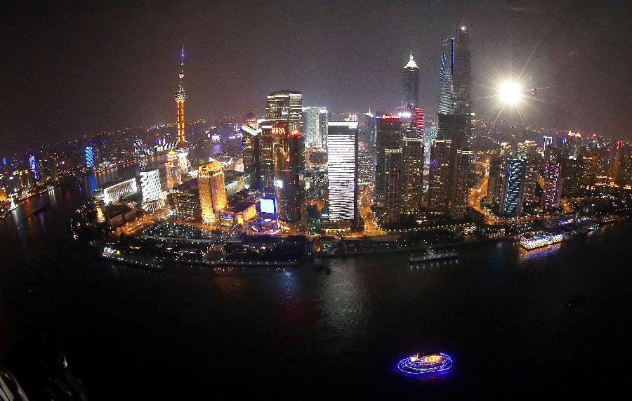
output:
[[[289,229],[301,220],[305,171],[303,133],[298,123],[287,121],[272,123],[270,133],[279,225]]]

